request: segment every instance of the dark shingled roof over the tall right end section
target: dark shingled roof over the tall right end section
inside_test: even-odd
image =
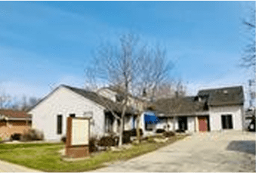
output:
[[[206,99],[209,106],[243,105],[242,86],[199,90],[198,96]]]

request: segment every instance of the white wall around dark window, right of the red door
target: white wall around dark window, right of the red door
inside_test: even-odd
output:
[[[221,115],[232,114],[233,120],[233,129],[242,130],[242,115],[243,115],[243,106],[223,106],[223,107],[210,107],[209,108],[209,119],[210,119],[210,129],[221,130]]]

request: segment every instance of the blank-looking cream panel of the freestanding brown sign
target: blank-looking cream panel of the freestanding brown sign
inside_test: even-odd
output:
[[[72,119],[72,140],[71,145],[89,144],[89,120]]]

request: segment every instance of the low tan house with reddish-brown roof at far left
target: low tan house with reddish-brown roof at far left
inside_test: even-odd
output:
[[[25,111],[0,110],[0,138],[9,138],[14,133],[23,134],[31,126],[31,116]]]

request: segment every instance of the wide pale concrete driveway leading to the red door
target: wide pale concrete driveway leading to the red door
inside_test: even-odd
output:
[[[255,171],[256,133],[197,133],[143,156],[90,172]]]

